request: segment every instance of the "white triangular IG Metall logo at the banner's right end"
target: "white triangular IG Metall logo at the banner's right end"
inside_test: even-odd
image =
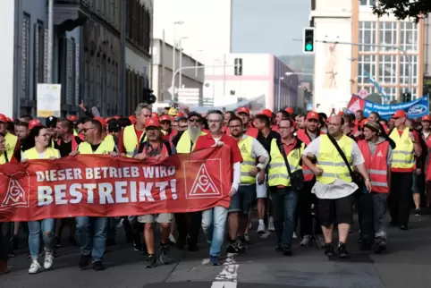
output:
[[[215,182],[207,173],[205,162],[200,165],[199,172],[188,194],[188,198],[220,198],[222,196]]]

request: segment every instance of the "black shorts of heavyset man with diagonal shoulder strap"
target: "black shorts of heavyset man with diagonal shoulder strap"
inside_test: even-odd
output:
[[[329,227],[332,224],[353,223],[354,195],[339,199],[318,199],[317,211],[320,224]]]

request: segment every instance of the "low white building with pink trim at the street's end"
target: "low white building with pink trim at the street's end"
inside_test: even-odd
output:
[[[235,58],[242,59],[242,75],[234,74]],[[258,108],[273,111],[296,106],[298,75],[271,54],[227,54],[215,59],[216,68],[206,71],[204,98],[213,98],[215,106],[230,105],[241,99],[262,97]],[[292,74],[286,75],[286,72]]]

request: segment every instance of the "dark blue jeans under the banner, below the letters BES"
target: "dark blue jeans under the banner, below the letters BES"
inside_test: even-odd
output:
[[[91,255],[93,262],[101,261],[106,250],[108,220],[106,217],[76,217],[76,236],[80,254]]]

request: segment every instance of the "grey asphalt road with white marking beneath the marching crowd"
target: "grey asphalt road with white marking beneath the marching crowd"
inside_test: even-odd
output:
[[[351,258],[328,260],[318,248],[293,245],[293,256],[275,252],[274,234],[253,233],[250,249],[224,258],[224,265],[211,267],[207,247],[198,252],[171,250],[173,262],[144,269],[146,257],[134,251],[118,235],[119,243],[106,253],[106,270],[80,270],[79,252],[61,248],[54,269],[29,275],[27,250],[10,260],[11,273],[0,276],[0,287],[146,287],[146,288],[281,288],[431,287],[431,217],[411,216],[410,230],[390,228],[388,253],[376,255],[359,251],[357,234],[352,233],[348,249]]]

